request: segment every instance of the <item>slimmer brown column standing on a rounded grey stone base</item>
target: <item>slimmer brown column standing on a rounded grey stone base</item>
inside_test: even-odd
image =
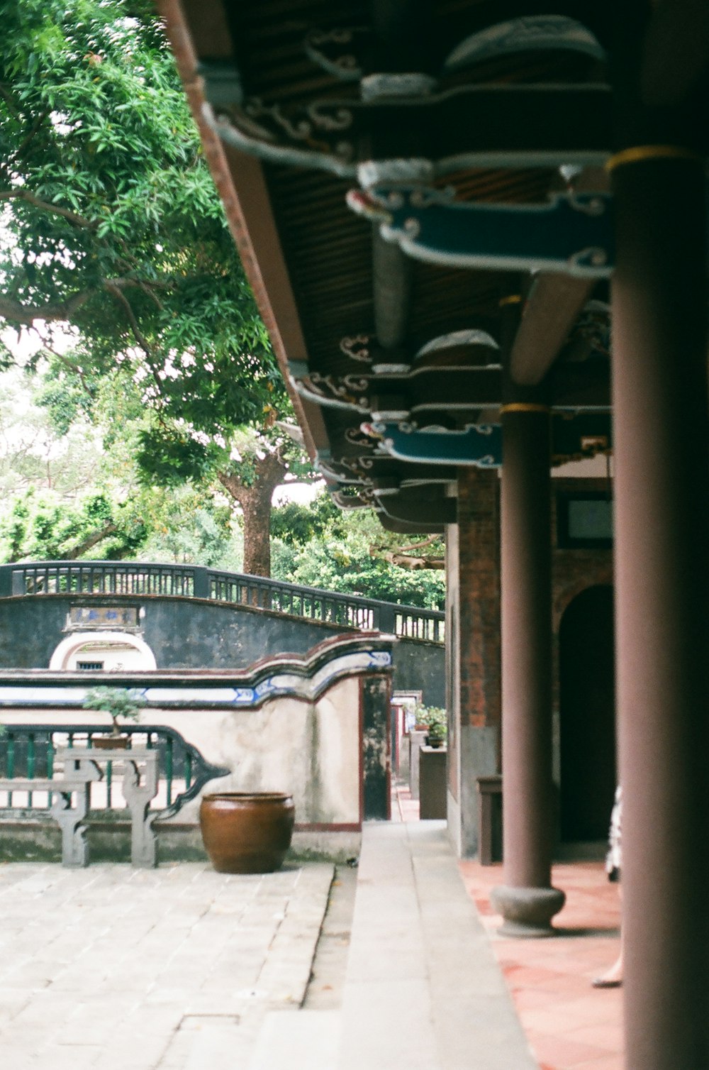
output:
[[[550,413],[503,407],[500,502],[504,880],[502,932],[541,936],[564,905],[551,886],[552,580]]]

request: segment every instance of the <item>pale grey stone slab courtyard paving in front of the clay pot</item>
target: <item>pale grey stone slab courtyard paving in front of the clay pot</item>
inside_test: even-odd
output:
[[[0,865],[2,1066],[248,1066],[266,1014],[303,1003],[333,874]]]

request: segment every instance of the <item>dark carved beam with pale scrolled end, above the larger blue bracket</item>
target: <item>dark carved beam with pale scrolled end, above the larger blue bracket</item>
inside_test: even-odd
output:
[[[385,147],[387,132],[392,144],[416,137],[421,149],[414,167],[420,170],[423,160],[434,177],[465,167],[601,165],[611,151],[606,86],[472,85],[430,94],[419,87],[413,96],[313,100],[288,109],[259,98],[241,103],[236,88],[230,96],[209,67],[203,64],[203,118],[224,141],[262,159],[342,178],[366,174],[354,147],[374,133]]]

